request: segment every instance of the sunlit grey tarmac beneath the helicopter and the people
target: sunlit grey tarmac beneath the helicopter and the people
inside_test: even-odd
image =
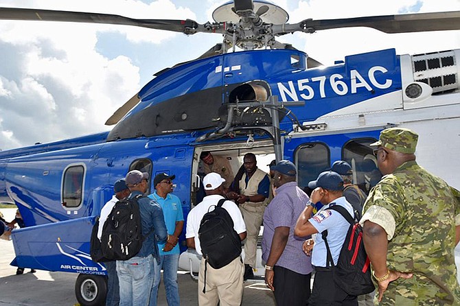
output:
[[[16,209],[0,209],[5,220],[13,220]],[[78,274],[37,270],[16,275],[16,267],[10,266],[14,259],[11,241],[0,239],[0,306],[76,306],[75,282]],[[198,283],[187,271],[178,272],[181,305],[198,305]],[[159,288],[158,305],[168,305],[163,283]],[[275,298],[264,283],[245,283],[242,305],[274,306]]]

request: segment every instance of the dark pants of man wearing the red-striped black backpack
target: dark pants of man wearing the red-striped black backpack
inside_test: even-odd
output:
[[[357,296],[349,296],[334,283],[334,272],[326,268],[315,268],[313,290],[308,305],[358,306]]]

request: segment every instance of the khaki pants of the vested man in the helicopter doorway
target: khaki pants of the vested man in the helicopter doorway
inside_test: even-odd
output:
[[[244,243],[244,263],[255,268],[257,254],[257,237],[259,237],[265,204],[240,204],[240,211],[246,224],[246,242]]]

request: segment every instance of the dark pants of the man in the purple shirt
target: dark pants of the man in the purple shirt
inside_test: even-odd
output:
[[[310,278],[312,274],[299,274],[289,269],[273,268],[273,287],[278,306],[305,306],[310,298]]]

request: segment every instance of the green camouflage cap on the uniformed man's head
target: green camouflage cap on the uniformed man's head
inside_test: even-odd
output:
[[[405,154],[415,153],[419,135],[408,128],[387,128],[380,132],[377,142],[371,146],[381,145],[384,148]]]

